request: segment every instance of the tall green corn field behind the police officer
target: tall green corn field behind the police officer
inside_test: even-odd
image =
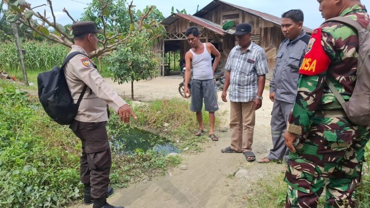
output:
[[[60,44],[36,41],[24,42],[22,48],[26,50],[26,70],[50,70],[60,66],[70,50]],[[15,43],[0,42],[0,60],[0,70],[20,69]]]

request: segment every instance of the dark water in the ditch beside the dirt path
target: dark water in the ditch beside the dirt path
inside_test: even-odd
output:
[[[112,128],[112,126],[111,126]],[[136,127],[118,127],[114,130],[110,146],[118,154],[133,154],[136,149],[144,151],[154,148],[160,154],[180,153],[168,139]]]

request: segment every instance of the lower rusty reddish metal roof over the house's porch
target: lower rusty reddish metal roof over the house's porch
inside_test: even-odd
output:
[[[211,21],[205,20],[204,18],[193,16],[189,14],[180,14],[180,13],[174,13],[173,15],[165,18],[161,24],[162,25],[171,25],[172,23],[176,22],[179,18],[184,18],[186,20],[189,20],[195,24],[198,24],[208,30],[211,30],[215,33],[218,33],[220,35],[225,34],[232,34],[232,31],[225,31],[222,29],[221,25],[218,25],[216,23],[213,23]]]

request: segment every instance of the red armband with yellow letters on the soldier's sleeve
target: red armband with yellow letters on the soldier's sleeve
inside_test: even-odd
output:
[[[321,45],[321,28],[315,29],[312,32],[299,73],[317,75],[326,71],[330,62],[329,56]]]

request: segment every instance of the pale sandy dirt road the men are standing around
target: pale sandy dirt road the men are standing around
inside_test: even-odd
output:
[[[178,84],[182,81],[180,75],[159,77],[150,81],[134,83],[134,94],[137,100],[152,100],[155,98],[180,97]],[[131,85],[118,85],[106,79],[122,96],[131,96]],[[254,128],[253,152],[257,159],[268,154],[272,147],[270,134],[270,119],[272,102],[268,98],[269,91],[265,90],[262,108],[256,111],[256,125]],[[222,102],[219,96],[220,111],[230,109],[230,103]],[[220,115],[218,115],[220,116]],[[135,207],[257,207],[247,204],[247,197],[253,197],[253,187],[250,184],[260,178],[268,178],[271,173],[279,173],[282,164],[260,164],[256,161],[247,162],[242,154],[223,154],[221,148],[230,145],[229,111],[223,115],[226,120],[216,131],[218,142],[209,141],[205,151],[197,154],[183,153],[182,164],[169,169],[162,177],[144,179],[131,184],[127,188],[115,190],[115,194],[108,198],[114,205],[123,205],[126,208]],[[180,169],[186,165],[187,169]],[[230,174],[245,169],[244,174],[231,177]],[[240,175],[239,175],[240,174]],[[257,197],[257,196],[255,196]],[[76,207],[90,207],[79,205]]]

